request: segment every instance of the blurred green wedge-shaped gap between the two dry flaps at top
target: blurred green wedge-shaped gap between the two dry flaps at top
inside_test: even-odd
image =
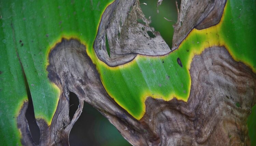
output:
[[[180,0],[177,1],[180,5]],[[140,7],[146,18],[151,17],[150,26],[159,32],[165,42],[172,48],[173,24],[177,21],[177,8],[175,0],[164,0],[159,5],[157,13],[157,0],[140,0]],[[166,18],[166,19],[165,19]],[[168,21],[170,20],[170,21]]]

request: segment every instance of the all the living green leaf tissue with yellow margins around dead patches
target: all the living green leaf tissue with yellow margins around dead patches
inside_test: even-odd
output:
[[[187,101],[191,59],[205,48],[224,45],[235,60],[256,70],[254,0],[228,0],[219,24],[201,31],[192,30],[180,47],[166,56],[138,55],[126,65],[109,67],[96,57],[93,42],[101,15],[112,1],[0,2],[0,139],[3,145],[20,145],[16,117],[27,100],[24,76],[31,92],[35,118],[51,124],[60,90],[47,78],[47,57],[49,50],[63,37],[79,39],[86,45],[108,93],[137,119],[145,112],[147,96]],[[177,60],[182,62],[182,67]],[[253,117],[249,119],[249,133],[255,136],[255,122]]]

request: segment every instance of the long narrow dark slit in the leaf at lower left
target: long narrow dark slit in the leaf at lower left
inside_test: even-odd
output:
[[[30,94],[30,90],[28,88],[28,83],[27,83],[26,78],[25,78],[25,82],[26,82],[27,94],[28,94],[28,108],[27,108],[25,116],[26,116],[26,119],[28,122],[30,135],[31,135],[34,143],[39,144],[40,129],[37,125],[37,121],[35,120],[33,102],[32,102],[32,98],[31,98],[31,94]]]

